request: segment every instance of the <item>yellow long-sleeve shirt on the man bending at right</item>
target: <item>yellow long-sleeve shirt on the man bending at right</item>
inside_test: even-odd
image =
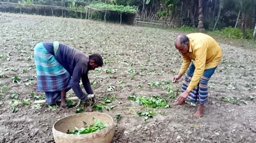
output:
[[[192,33],[189,37],[189,53],[182,54],[183,63],[180,67],[180,74],[184,74],[194,61],[195,71],[187,90],[193,90],[199,83],[204,70],[217,67],[222,57],[221,47],[209,35],[202,33]]]

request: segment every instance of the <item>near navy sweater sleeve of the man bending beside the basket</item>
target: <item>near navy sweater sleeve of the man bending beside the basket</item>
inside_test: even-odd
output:
[[[83,73],[86,73],[87,67],[84,65],[76,65],[76,67],[73,70],[73,76],[71,78],[71,87],[76,94],[76,96],[81,100],[85,101],[87,99],[88,94],[83,93],[81,90],[81,87],[79,85],[81,76]]]

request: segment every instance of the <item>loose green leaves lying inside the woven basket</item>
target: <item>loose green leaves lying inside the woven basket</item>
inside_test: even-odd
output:
[[[73,130],[72,132],[67,130],[67,134],[73,134],[73,135],[88,134],[88,133],[92,133],[92,132],[96,132],[101,129],[104,129],[108,126],[107,123],[102,123],[99,119],[93,118],[93,122],[94,123],[90,126],[86,126],[87,123],[84,122],[84,128],[78,129],[77,127],[75,127],[75,130]]]

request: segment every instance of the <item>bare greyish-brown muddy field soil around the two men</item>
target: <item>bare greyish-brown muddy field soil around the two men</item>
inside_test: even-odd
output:
[[[59,41],[87,54],[102,54],[103,71],[94,71],[89,78],[95,84],[97,97],[116,96],[116,101],[110,104],[116,107],[103,110],[111,116],[121,115],[120,120],[115,119],[113,143],[256,143],[255,50],[220,43],[224,57],[209,83],[209,102],[203,118],[193,118],[196,107],[186,104],[157,109],[157,115],[145,122],[144,117],[136,115],[145,108],[126,98],[132,93],[160,95],[173,102],[166,90],[160,86],[151,88],[148,83],[171,81],[179,70],[182,59],[173,44],[178,32],[89,20],[0,14],[0,87],[8,87],[8,90],[2,88],[0,96],[0,143],[54,143],[53,123],[75,113],[76,108],[60,110],[44,105],[37,109],[33,104],[32,92],[44,96],[35,92],[33,58],[34,46],[42,41]],[[115,73],[105,72],[110,67]],[[127,71],[131,69],[135,73],[130,75]],[[21,79],[20,83],[13,82],[14,76]],[[182,81],[172,86],[180,90],[181,84]],[[115,87],[111,92],[107,91],[110,85]],[[13,93],[18,97],[12,98]],[[233,100],[224,101],[223,97]],[[26,99],[31,103],[18,105],[13,113],[9,102]]]

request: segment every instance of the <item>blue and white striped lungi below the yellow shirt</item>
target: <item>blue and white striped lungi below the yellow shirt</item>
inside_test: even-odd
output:
[[[205,104],[208,100],[208,81],[211,78],[212,74],[215,72],[216,67],[204,70],[204,74],[201,77],[198,85],[189,93],[188,101],[197,103],[197,104]],[[192,80],[192,76],[195,71],[195,65],[192,63],[189,67],[188,72],[185,75],[185,79],[183,81],[182,90],[183,93],[187,87],[189,86],[190,81]]]

